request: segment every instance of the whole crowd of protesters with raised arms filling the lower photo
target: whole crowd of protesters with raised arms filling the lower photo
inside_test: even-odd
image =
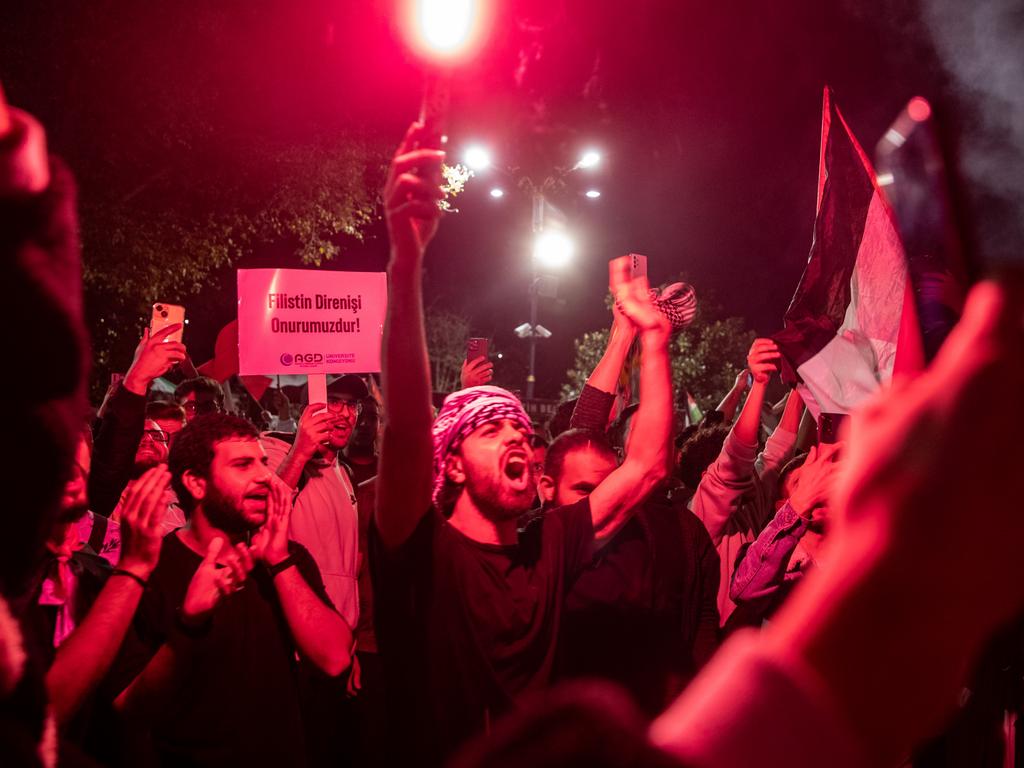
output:
[[[92,411],[74,187],[0,97],[2,326],[33,372],[3,385],[4,764],[1020,761],[1020,283],[979,285],[839,439],[801,428],[796,390],[766,408],[770,339],[688,424],[625,259],[567,419],[535,424],[486,360],[435,411],[443,157],[414,124],[389,169],[379,384],[272,416],[203,377],[162,397],[170,326]]]

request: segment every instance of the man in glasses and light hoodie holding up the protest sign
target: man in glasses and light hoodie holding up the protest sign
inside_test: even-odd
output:
[[[355,492],[339,455],[369,394],[358,376],[342,376],[328,386],[326,406],[306,406],[293,444],[262,437],[270,467],[296,492],[289,535],[316,560],[328,596],[349,627],[359,616],[359,532]]]

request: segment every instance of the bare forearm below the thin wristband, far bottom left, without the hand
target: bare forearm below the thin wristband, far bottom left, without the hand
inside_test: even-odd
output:
[[[57,649],[46,690],[58,724],[71,720],[111,669],[131,625],[142,587],[111,577],[83,622]]]

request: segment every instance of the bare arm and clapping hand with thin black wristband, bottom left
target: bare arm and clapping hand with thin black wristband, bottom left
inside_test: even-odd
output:
[[[169,481],[165,467],[154,467],[125,496],[118,567],[46,672],[46,690],[59,724],[75,716],[114,664],[145,581],[160,559],[160,514]]]

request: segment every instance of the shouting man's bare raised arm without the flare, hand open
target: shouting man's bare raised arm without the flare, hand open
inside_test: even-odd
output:
[[[669,471],[671,328],[650,301],[647,279],[627,279],[625,258],[615,259],[609,268],[615,301],[640,334],[640,408],[634,417],[625,460],[590,496],[594,538],[599,542],[614,536]]]

